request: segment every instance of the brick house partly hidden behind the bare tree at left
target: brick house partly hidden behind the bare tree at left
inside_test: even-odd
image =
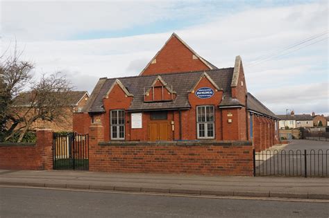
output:
[[[69,100],[69,104],[65,107],[63,111],[65,114],[62,114],[61,118],[58,120],[54,120],[53,122],[44,121],[44,120],[36,120],[31,125],[31,129],[53,129],[53,131],[73,131],[73,115],[74,113],[81,112],[83,107],[85,106],[87,100],[89,99],[89,93],[87,91],[69,91],[66,93],[67,98]],[[33,99],[33,93],[25,92],[20,93],[13,100],[12,107],[17,110],[17,114],[24,114],[25,111],[31,107],[31,99]],[[31,111],[31,113],[33,113]],[[29,116],[29,114],[26,114]],[[19,127],[19,126],[17,126]]]

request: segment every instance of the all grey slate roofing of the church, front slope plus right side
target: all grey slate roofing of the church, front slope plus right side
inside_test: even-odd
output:
[[[171,102],[144,102],[144,87],[150,87],[158,75],[142,75],[110,79],[101,78],[96,84],[94,91],[92,91],[90,100],[87,102],[84,110],[90,113],[105,112],[103,109],[103,98],[106,96],[106,93],[117,79],[119,79],[119,81],[124,84],[126,89],[133,94],[133,101],[128,109],[129,111],[189,109],[191,106],[188,101],[188,93],[204,72],[210,76],[219,89],[223,89],[224,98],[219,107],[245,106],[242,102],[239,102],[239,100],[231,98],[232,95],[230,85],[233,78],[233,68],[231,67],[209,71],[161,74],[161,78],[167,82],[169,87],[173,87],[173,91],[176,91],[177,96],[175,100]],[[248,110],[278,119],[278,116],[265,107],[259,100],[251,95],[251,93],[247,93],[247,95]]]

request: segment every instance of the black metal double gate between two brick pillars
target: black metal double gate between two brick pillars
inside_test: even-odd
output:
[[[88,134],[53,133],[53,170],[88,170]]]

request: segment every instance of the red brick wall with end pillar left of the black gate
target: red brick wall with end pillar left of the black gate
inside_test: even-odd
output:
[[[36,143],[0,143],[1,170],[52,170],[53,131],[37,131]]]

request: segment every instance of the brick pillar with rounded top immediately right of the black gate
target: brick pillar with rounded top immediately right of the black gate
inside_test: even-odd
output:
[[[104,127],[101,123],[94,123],[89,127],[89,170],[96,171],[99,161],[96,152],[99,151],[99,142],[104,141]]]

